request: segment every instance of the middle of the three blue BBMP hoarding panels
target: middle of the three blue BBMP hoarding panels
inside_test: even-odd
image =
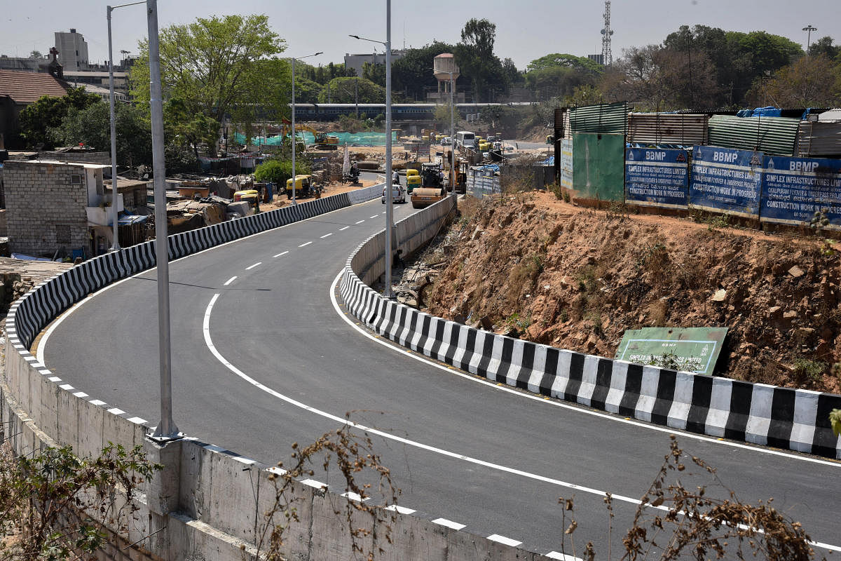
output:
[[[696,146],[692,154],[690,206],[757,218],[763,153]]]

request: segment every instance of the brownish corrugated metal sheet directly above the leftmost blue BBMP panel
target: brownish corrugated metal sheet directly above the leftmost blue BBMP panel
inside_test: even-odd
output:
[[[706,114],[630,113],[628,142],[642,144],[706,144]]]

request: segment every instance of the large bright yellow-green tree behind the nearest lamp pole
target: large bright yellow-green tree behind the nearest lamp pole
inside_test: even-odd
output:
[[[265,15],[198,18],[192,24],[161,30],[161,83],[164,98],[177,100],[167,112],[168,124],[193,144],[215,151],[215,137],[225,116],[251,123],[272,98],[276,84],[267,79],[267,60],[285,48]],[[140,103],[149,101],[148,43],[140,43],[132,67],[131,90]],[[273,103],[272,106],[277,106]],[[177,119],[173,121],[172,119]],[[215,126],[214,126],[215,123]],[[209,132],[212,131],[212,135]],[[208,134],[204,134],[208,133]]]

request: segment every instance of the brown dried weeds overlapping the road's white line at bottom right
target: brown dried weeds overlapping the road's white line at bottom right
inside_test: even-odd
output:
[[[815,558],[810,537],[800,522],[777,511],[773,499],[747,505],[727,489],[718,478],[716,469],[701,458],[684,459],[684,451],[676,437],[670,436],[669,453],[665,455],[657,476],[637,505],[632,527],[622,538],[622,561],[657,559],[677,561],[693,558],[745,559],[761,558],[769,561],[807,561]],[[687,464],[701,469],[699,474],[686,472]],[[707,495],[707,485],[691,487],[680,475],[706,475],[713,484],[725,491],[727,498]],[[608,493],[604,498],[608,515],[608,543],[613,532],[613,502]],[[563,505],[561,527],[564,528],[561,553],[577,555],[574,532],[574,497],[560,497]],[[568,521],[569,519],[569,521]],[[613,552],[608,549],[607,559]],[[596,558],[593,544],[582,550],[584,561]],[[825,558],[824,558],[825,559]]]

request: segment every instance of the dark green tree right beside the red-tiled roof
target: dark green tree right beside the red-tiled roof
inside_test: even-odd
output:
[[[71,110],[81,110],[95,103],[104,103],[98,95],[87,93],[83,87],[70,87],[62,98],[43,96],[20,112],[21,137],[27,146],[55,146],[50,138],[50,129],[61,126]]]

